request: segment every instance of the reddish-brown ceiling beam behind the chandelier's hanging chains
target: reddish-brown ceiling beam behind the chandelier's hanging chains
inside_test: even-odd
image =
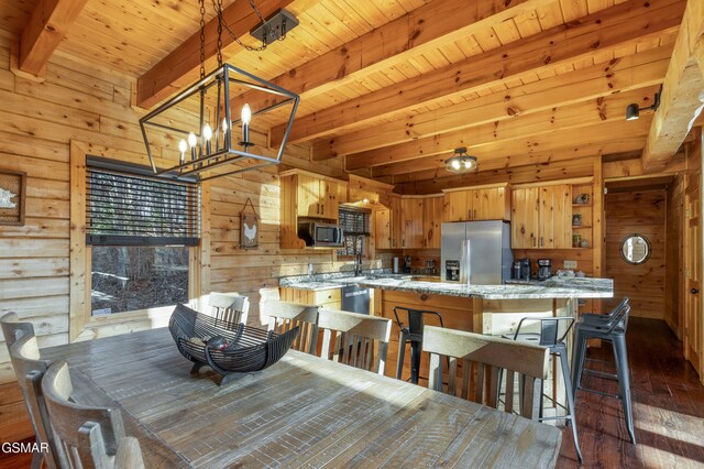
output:
[[[279,8],[295,10],[297,14],[319,0],[260,0],[256,6],[264,18],[271,17]],[[206,0],[210,8],[210,2]],[[260,24],[256,12],[246,1],[235,1],[222,10],[222,20],[235,36],[242,37]],[[213,18],[206,24],[206,72],[210,72],[211,64],[218,52],[218,19]],[[233,43],[227,31],[222,33],[222,47]],[[200,29],[144,73],[136,83],[136,105],[151,108],[160,101],[174,95],[183,87],[198,79],[200,68]]]

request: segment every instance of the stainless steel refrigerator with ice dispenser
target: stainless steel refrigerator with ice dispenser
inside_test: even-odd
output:
[[[510,225],[502,220],[442,223],[441,280],[499,285],[510,279]]]

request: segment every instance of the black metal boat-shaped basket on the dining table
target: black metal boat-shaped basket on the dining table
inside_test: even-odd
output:
[[[299,328],[294,327],[278,335],[217,319],[184,305],[176,305],[168,330],[178,351],[194,362],[191,373],[210,367],[222,374],[220,384],[276,363],[299,332]]]

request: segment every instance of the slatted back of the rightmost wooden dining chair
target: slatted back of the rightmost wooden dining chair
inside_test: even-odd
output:
[[[499,408],[501,373],[506,370],[504,410],[514,411],[514,378],[525,383],[520,415],[538,419],[541,385],[548,378],[550,351],[544,347],[435,326],[424,328],[422,350],[430,352],[429,388],[443,392],[441,356],[450,358],[448,394]],[[462,382],[458,383],[458,359]],[[476,375],[473,375],[475,370]],[[522,381],[521,381],[522,380]]]

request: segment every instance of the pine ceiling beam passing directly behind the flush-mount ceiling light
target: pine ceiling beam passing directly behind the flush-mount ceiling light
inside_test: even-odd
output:
[[[476,150],[483,145],[502,142],[510,144],[510,142],[531,139],[546,133],[550,133],[553,140],[563,141],[565,145],[569,145],[572,142],[565,141],[562,138],[562,133],[566,130],[586,127],[592,128],[593,126],[609,122],[623,122],[626,106],[630,102],[638,102],[642,106],[645,102],[648,102],[648,99],[652,98],[652,94],[657,91],[657,86],[651,86],[635,91],[618,92],[607,97],[600,97],[574,105],[556,107],[541,112],[517,117],[499,123],[491,122],[476,126],[464,131],[464,142],[458,143],[457,139],[451,138],[443,146],[452,143],[454,143],[455,146],[466,144],[471,145],[470,154],[474,154]],[[455,132],[450,132],[449,135],[453,137],[454,133]],[[444,135],[440,137],[442,138]],[[354,156],[356,155],[346,156],[345,160],[349,162],[354,159]],[[389,164],[373,167],[372,175],[374,177],[393,176],[408,173],[410,167],[420,170],[428,168],[429,166],[432,168],[437,166],[438,159],[444,161],[448,157],[450,157],[450,151],[440,154],[438,157],[425,156],[413,161],[395,161]]]

